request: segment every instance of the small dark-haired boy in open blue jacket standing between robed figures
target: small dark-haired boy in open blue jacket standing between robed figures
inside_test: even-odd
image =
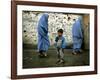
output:
[[[58,36],[55,38],[58,60],[57,63],[64,63],[64,48],[66,46],[65,38],[63,37],[63,30],[58,30]]]

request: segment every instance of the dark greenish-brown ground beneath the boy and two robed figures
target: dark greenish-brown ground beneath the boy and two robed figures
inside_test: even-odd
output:
[[[83,50],[82,54],[72,55],[72,49],[65,49],[65,64],[56,64],[57,54],[55,49],[48,50],[47,58],[39,58],[34,49],[23,50],[23,68],[42,67],[67,67],[89,65],[89,51]]]

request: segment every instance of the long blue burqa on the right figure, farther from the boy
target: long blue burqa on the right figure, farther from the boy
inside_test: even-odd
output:
[[[80,50],[83,40],[82,20],[79,18],[72,27],[73,49]]]

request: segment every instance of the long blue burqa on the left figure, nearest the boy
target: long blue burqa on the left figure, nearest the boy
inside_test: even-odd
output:
[[[47,51],[49,46],[48,14],[43,14],[38,23],[38,51]]]

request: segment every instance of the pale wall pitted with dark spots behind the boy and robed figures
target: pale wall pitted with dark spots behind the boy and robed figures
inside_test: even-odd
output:
[[[37,24],[42,14],[42,12],[23,11],[22,26],[24,44],[37,44]],[[72,44],[72,25],[74,20],[81,15],[67,13],[48,13],[48,15],[48,35],[51,45],[54,44],[55,36],[57,36],[57,30],[60,28],[64,30],[63,35],[66,38],[67,44]]]

